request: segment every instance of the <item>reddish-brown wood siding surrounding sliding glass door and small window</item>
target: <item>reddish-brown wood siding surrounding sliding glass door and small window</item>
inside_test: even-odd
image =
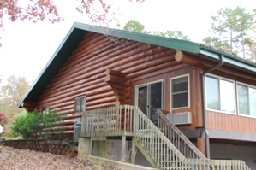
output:
[[[136,79],[132,79],[131,88],[131,104],[135,104],[135,87],[136,85],[144,85],[153,81],[164,79],[164,110],[171,112],[172,114],[191,112],[192,113],[192,124],[191,125],[180,125],[179,128],[195,128],[203,125],[202,118],[202,100],[201,100],[201,80],[200,80],[200,69],[196,67],[190,67],[187,64],[181,64],[174,67],[165,68],[157,73],[148,73]],[[170,108],[170,79],[177,76],[188,74],[190,78],[190,107],[189,108]]]

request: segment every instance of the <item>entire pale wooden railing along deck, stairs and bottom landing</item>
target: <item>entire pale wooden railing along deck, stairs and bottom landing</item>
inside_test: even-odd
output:
[[[206,159],[182,132],[161,119],[158,128],[138,107],[129,105],[89,110],[82,114],[81,137],[134,137],[154,167],[164,170],[250,170],[244,161]]]

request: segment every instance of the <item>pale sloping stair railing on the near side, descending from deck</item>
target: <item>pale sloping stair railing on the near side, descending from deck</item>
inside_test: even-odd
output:
[[[134,107],[134,138],[151,155],[159,169],[188,169],[185,156],[139,108]]]

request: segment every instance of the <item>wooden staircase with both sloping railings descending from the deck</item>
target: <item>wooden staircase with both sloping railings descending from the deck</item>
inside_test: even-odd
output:
[[[188,152],[190,155],[193,155],[193,158],[205,158],[205,155],[202,155],[196,147],[193,147],[193,144],[190,141],[186,141],[188,143],[183,143],[182,146],[178,146],[178,141],[180,138],[184,138],[183,136],[178,138],[173,135],[164,135],[161,132],[161,128],[155,126],[151,120],[149,120],[145,114],[143,114],[140,110],[138,110],[136,118],[137,122],[134,122],[134,144],[140,149],[140,152],[146,157],[147,161],[152,164],[152,167],[158,169],[189,169],[187,165],[184,164],[186,157],[182,154],[182,152]],[[165,116],[158,110],[159,118],[161,116]],[[178,132],[178,134],[182,134],[179,130],[177,130],[176,126],[175,130],[172,129],[171,126],[167,126],[169,123],[163,124],[164,121],[158,120],[158,126],[161,126],[164,132]],[[169,138],[168,138],[169,137]],[[175,138],[177,147],[170,141],[170,138]],[[193,154],[192,154],[193,153]]]

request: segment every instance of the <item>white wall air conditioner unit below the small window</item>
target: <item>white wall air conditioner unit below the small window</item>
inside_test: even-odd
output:
[[[192,123],[191,112],[167,114],[167,118],[175,125],[186,125]]]

